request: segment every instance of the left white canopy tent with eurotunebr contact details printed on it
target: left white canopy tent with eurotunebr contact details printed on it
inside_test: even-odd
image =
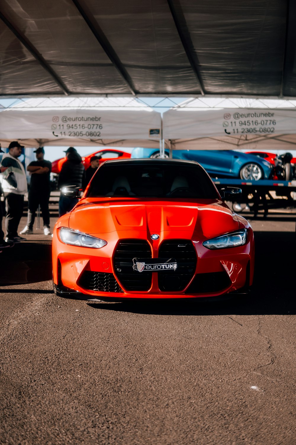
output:
[[[0,142],[159,148],[161,114],[130,97],[35,98],[0,109]]]

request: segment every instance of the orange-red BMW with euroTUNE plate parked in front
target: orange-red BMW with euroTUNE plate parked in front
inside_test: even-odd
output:
[[[224,198],[239,191],[226,189]],[[252,284],[254,238],[197,162],[115,160],[99,166],[55,224],[52,260],[60,296],[219,297]]]

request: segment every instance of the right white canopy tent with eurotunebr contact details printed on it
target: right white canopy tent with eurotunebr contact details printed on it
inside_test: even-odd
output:
[[[189,99],[163,114],[172,150],[296,150],[296,101]]]

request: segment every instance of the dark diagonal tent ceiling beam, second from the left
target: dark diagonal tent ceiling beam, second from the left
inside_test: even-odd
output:
[[[103,33],[102,29],[100,28],[98,22],[95,20],[95,17],[91,14],[91,12],[88,10],[88,8],[83,5],[82,2],[79,2],[78,0],[72,0],[72,2],[75,4],[76,8],[80,12],[81,16],[87,23],[88,27],[90,28],[91,32],[95,36],[95,38],[98,40],[99,44],[111,60],[114,67],[117,69],[118,73],[121,75],[123,80],[126,82],[126,85],[129,87],[130,92],[133,96],[137,95],[137,92],[134,90],[133,82],[130,78],[130,75],[127,73],[126,69],[122,65],[118,55],[115,53],[114,49],[112,48],[111,44],[109,43],[109,40]]]

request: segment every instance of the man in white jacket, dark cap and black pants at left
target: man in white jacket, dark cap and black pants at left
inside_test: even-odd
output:
[[[20,243],[25,238],[18,235],[17,229],[24,208],[24,194],[28,191],[27,177],[23,164],[18,160],[22,153],[19,142],[9,144],[8,153],[3,155],[1,166],[8,167],[1,173],[1,185],[4,191],[6,209],[6,238],[8,243]]]

